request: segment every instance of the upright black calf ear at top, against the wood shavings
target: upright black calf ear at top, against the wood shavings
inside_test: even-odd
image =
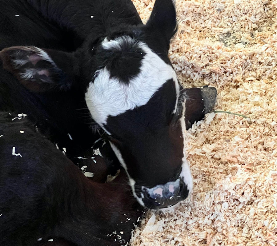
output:
[[[168,45],[177,31],[176,11],[174,0],[156,0],[147,26],[161,32]]]

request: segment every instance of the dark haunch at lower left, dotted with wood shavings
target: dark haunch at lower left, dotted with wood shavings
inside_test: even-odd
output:
[[[141,209],[124,176],[90,181],[27,119],[0,113],[0,245],[125,245]],[[14,119],[14,120],[12,120]],[[125,184],[124,184],[125,183]]]

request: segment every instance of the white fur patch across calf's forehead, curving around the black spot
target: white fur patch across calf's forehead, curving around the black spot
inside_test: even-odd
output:
[[[120,42],[126,40],[136,42],[130,37],[120,37],[109,42],[103,41],[102,46],[105,49],[121,49]],[[85,94],[86,104],[92,118],[102,127],[106,124],[108,116],[117,116],[127,110],[147,104],[167,80],[175,81],[176,90],[179,93],[178,80],[173,68],[159,58],[145,43],[137,42],[137,44],[145,56],[142,59],[140,73],[130,79],[129,84],[117,78],[110,78],[110,73],[106,68],[96,71],[97,77],[89,84]]]

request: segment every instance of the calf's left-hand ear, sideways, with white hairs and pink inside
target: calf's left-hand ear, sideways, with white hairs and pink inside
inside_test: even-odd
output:
[[[13,46],[0,52],[4,69],[34,92],[58,87],[70,88],[73,83],[73,55],[34,46]]]

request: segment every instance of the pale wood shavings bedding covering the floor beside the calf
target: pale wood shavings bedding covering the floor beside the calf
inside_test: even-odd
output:
[[[143,21],[154,2],[134,0]],[[131,245],[277,245],[277,1],[176,0],[170,58],[185,87],[218,89],[186,133],[190,199],[148,213]]]

